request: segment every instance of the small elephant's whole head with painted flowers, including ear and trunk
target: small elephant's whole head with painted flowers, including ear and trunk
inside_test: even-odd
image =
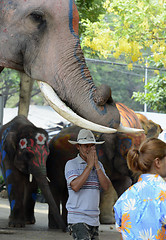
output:
[[[49,154],[48,134],[37,128],[24,116],[17,116],[10,123],[5,137],[4,150],[9,160],[25,177],[35,178],[46,201],[53,211],[57,226],[65,229],[59,210],[52,197],[46,175],[46,160]],[[6,131],[7,132],[7,131]]]

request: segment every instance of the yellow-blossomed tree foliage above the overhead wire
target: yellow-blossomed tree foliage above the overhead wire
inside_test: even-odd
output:
[[[99,21],[82,20],[82,47],[107,58],[125,56],[144,61],[144,52],[166,67],[166,3],[164,0],[105,0]]]

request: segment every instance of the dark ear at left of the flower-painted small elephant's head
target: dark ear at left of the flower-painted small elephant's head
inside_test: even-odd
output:
[[[4,149],[11,160],[13,160],[16,155],[16,139],[16,134],[9,132],[4,142]]]

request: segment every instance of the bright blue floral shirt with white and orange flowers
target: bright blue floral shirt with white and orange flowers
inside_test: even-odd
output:
[[[114,205],[116,227],[123,239],[166,239],[166,182],[142,174]]]

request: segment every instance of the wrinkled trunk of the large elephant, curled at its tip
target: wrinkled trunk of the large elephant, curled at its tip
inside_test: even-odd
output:
[[[63,49],[61,52],[63,57],[61,57],[61,66],[57,68],[58,79],[56,84],[55,82],[52,84],[54,90],[79,116],[93,123],[117,129],[120,124],[120,114],[112,99],[110,87],[95,86],[79,40],[76,41],[73,49],[75,49],[73,56],[71,52],[68,53],[70,49]],[[63,84],[57,84],[59,80]]]

